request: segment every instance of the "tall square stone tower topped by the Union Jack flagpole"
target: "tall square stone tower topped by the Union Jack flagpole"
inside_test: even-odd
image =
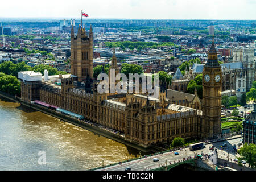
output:
[[[93,78],[93,31],[90,27],[89,37],[85,27],[79,26],[77,35],[71,29],[71,74],[78,77],[78,81],[85,81],[86,77]]]

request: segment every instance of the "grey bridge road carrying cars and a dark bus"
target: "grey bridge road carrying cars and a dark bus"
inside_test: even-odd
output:
[[[228,150],[232,150],[233,148],[233,144],[238,144],[240,142],[241,138],[236,138],[236,139],[230,139],[230,140],[226,140],[225,142],[216,142],[213,143],[214,147],[217,148],[218,151],[218,155],[223,156],[223,158],[225,158],[225,156],[228,156]],[[221,152],[221,146],[223,145],[223,143],[227,144],[227,147]],[[178,160],[183,160],[183,158],[187,157],[187,156],[194,156],[196,153],[197,154],[209,154],[210,150],[209,150],[209,146],[212,146],[212,144],[207,144],[205,145],[205,148],[201,149],[201,150],[196,150],[196,151],[190,151],[189,148],[183,149],[183,150],[178,150],[177,152],[179,152],[179,155],[174,155],[174,152],[176,151],[172,151],[172,152],[166,152],[164,154],[159,154],[156,156],[151,156],[151,157],[147,157],[147,158],[141,158],[138,160],[133,160],[131,162],[126,162],[126,163],[122,163],[122,164],[117,164],[115,166],[109,166],[106,168],[101,168],[98,169],[98,171],[124,171],[127,167],[130,167],[131,170],[133,171],[144,171],[144,170],[150,170],[150,169],[155,169],[158,168],[159,164],[160,167],[162,166],[162,164],[165,164],[167,161],[167,165],[170,165],[174,163],[177,163]],[[237,159],[238,155],[234,155],[234,153],[229,152],[229,159]],[[153,162],[153,158],[158,158],[159,161],[158,162]],[[222,158],[222,159],[223,159]],[[147,169],[146,169],[147,167]]]

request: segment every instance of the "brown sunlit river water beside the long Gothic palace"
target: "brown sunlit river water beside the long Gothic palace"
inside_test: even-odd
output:
[[[39,164],[40,151],[46,164]],[[88,170],[139,151],[0,97],[0,170]]]

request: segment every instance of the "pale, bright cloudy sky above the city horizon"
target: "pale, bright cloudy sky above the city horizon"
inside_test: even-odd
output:
[[[255,20],[256,0],[11,0],[1,18],[232,19]]]

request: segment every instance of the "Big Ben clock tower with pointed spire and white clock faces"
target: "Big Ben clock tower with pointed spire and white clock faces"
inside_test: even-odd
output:
[[[214,138],[221,134],[221,88],[222,71],[212,39],[208,60],[203,69],[203,138]]]

